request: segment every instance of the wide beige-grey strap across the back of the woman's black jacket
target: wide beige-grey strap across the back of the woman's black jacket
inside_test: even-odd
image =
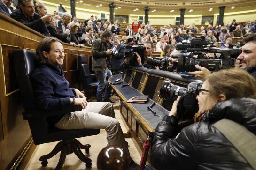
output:
[[[212,126],[216,127],[256,170],[256,136],[244,126],[226,118]]]

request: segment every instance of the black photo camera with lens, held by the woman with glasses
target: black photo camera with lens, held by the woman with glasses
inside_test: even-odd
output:
[[[177,116],[179,120],[192,119],[194,114],[198,112],[198,104],[196,96],[202,87],[202,81],[191,82],[187,88],[183,88],[171,83],[171,81],[163,81],[160,89],[160,96],[164,100],[174,99],[181,96],[177,105]]]

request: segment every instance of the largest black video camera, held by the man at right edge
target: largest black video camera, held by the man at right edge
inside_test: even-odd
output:
[[[204,36],[194,37],[192,40],[186,40],[183,44],[176,44],[176,50],[186,50],[191,52],[189,56],[185,54],[172,55],[173,58],[178,58],[178,72],[196,71],[195,65],[200,65],[210,71],[218,71],[234,66],[235,58],[241,53],[240,49],[219,49],[214,45],[210,45],[209,41],[205,41]],[[214,53],[214,59],[202,59],[206,53]],[[217,57],[216,53],[220,56]],[[193,58],[197,54],[197,58]]]

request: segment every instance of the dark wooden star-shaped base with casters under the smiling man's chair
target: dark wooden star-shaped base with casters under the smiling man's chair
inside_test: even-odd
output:
[[[85,149],[85,153],[89,154],[90,147],[91,145],[83,145],[77,139],[62,140],[59,143],[57,143],[57,145],[49,154],[41,156],[39,160],[42,161],[41,164],[43,167],[45,167],[48,164],[47,159],[52,158],[54,155],[61,151],[59,162],[55,168],[55,170],[61,170],[65,162],[66,156],[75,153],[81,161],[86,163],[86,167],[90,168],[92,167],[92,160],[86,157],[81,151],[81,149]]]

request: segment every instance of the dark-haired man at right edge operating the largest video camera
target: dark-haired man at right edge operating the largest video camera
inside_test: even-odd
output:
[[[246,70],[256,79],[256,34],[251,34],[248,37],[245,37],[244,46],[242,46],[242,53],[237,57],[237,62],[239,64],[236,67],[239,67],[243,70]],[[204,67],[195,66],[199,71],[188,72],[188,74],[194,75],[195,77],[204,78],[210,71]]]

